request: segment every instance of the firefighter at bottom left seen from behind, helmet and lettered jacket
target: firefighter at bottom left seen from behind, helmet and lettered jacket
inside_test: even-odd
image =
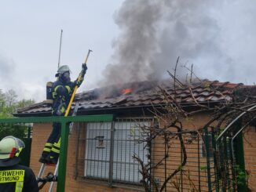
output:
[[[14,136],[6,136],[0,141],[0,191],[38,191],[34,172],[19,165],[19,154],[24,147],[24,142]]]

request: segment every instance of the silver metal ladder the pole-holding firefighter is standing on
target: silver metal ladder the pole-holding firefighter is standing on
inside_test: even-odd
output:
[[[75,115],[76,115],[78,109],[79,109],[79,103],[76,102],[76,103],[75,103],[75,109],[74,109],[74,111],[73,111],[72,116],[75,116]],[[71,132],[72,132],[72,129],[73,129],[73,125],[74,125],[74,122],[71,122],[71,124],[69,125],[69,136],[71,136]],[[42,165],[41,165],[41,168],[40,168],[39,173],[38,173],[38,176],[37,176],[37,178],[38,178],[39,181],[40,181],[40,179],[42,178],[42,176],[43,176],[43,174],[44,174],[44,172],[45,172],[45,170],[46,170],[46,165],[47,165],[46,163],[42,163]],[[54,170],[53,176],[55,176],[55,177],[57,178],[57,175],[58,175],[58,168],[59,168],[59,159],[58,159],[58,161],[57,161],[57,165],[55,165],[55,166],[56,166],[56,168],[55,168],[55,170]],[[49,192],[52,192],[52,191],[53,191],[54,183],[55,183],[55,180],[54,180],[54,181],[51,181],[50,187],[49,187]]]

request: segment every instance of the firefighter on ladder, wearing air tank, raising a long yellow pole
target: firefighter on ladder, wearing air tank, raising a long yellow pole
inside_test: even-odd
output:
[[[71,99],[75,85],[80,86],[82,84],[84,75],[86,74],[86,63],[82,64],[82,71],[75,82],[71,82],[70,69],[68,65],[60,66],[57,74],[57,81],[53,82],[51,88],[51,96],[53,99],[52,114],[53,116],[64,116],[68,107],[68,103]],[[57,160],[60,154],[60,128],[61,125],[58,122],[53,122],[53,131],[47,139],[46,145],[42,151],[42,156],[39,162],[57,164]]]

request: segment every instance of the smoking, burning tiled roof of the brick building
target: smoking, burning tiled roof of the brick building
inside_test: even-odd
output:
[[[75,102],[79,102],[79,111],[105,110],[126,107],[157,106],[164,103],[160,88],[165,89],[170,98],[181,105],[194,103],[220,103],[232,100],[232,92],[248,87],[243,84],[203,80],[192,85],[176,85],[171,80],[162,82],[133,82],[125,85],[112,85],[76,94]],[[49,114],[51,108],[47,103],[35,103],[17,111],[15,116],[37,116]]]

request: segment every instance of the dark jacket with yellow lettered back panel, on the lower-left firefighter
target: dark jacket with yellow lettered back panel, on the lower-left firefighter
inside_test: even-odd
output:
[[[0,167],[0,191],[37,192],[38,182],[34,172],[26,166]]]

